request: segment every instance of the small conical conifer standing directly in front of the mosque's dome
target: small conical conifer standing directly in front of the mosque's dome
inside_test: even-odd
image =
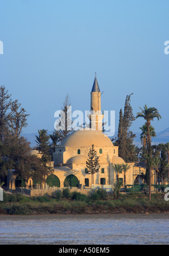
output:
[[[99,156],[97,156],[97,153],[94,148],[94,144],[92,144],[92,147],[88,152],[88,159],[86,161],[86,166],[88,169],[88,173],[91,174],[91,186],[92,186],[92,184],[94,184],[94,174],[97,173],[97,171],[99,171],[99,168],[100,168]]]

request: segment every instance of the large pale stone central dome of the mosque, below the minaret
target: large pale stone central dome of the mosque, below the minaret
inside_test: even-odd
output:
[[[66,137],[60,147],[113,147],[112,141],[101,131],[80,129]]]

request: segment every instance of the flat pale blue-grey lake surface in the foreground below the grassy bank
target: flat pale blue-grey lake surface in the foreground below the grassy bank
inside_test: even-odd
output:
[[[169,244],[169,214],[0,216],[0,244]]]

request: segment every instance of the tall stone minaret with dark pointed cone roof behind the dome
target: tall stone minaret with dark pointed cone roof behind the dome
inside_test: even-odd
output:
[[[101,92],[97,83],[96,73],[94,85],[91,90],[91,114],[90,127],[92,129],[102,131],[103,114],[101,112]]]

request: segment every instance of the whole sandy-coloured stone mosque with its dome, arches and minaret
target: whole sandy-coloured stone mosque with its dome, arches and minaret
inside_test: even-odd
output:
[[[114,146],[112,140],[102,132],[103,114],[101,112],[101,91],[95,76],[91,90],[91,114],[90,128],[73,131],[68,135],[53,153],[54,173],[46,177],[43,188],[65,188],[77,187],[104,188],[112,191],[117,180],[114,164],[125,164],[118,156],[118,147]],[[94,144],[94,149],[99,156],[99,171],[94,174],[94,182],[91,183],[91,174],[88,173],[86,161],[88,152]],[[134,183],[143,183],[145,168],[135,163],[127,163],[130,169],[126,173],[126,184],[132,186]],[[119,173],[119,179],[124,182],[124,173]],[[152,182],[154,175],[152,175]],[[11,185],[10,185],[11,184]],[[30,188],[33,181],[29,181]],[[123,183],[124,184],[124,183]],[[129,187],[130,187],[129,186]],[[15,182],[9,183],[9,187],[15,189]]]

